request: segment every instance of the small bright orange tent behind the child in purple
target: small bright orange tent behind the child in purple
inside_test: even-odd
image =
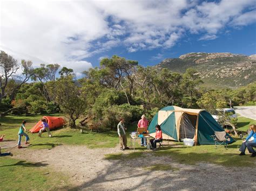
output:
[[[65,125],[65,120],[61,117],[50,117],[50,116],[44,116],[43,118],[46,119],[48,125],[49,125],[49,129],[55,129],[55,128],[59,128],[63,125]],[[35,126],[33,126],[32,129],[30,129],[31,133],[36,133],[39,132],[39,130],[42,128],[40,127],[42,125],[42,122],[39,121],[37,122],[37,124]]]

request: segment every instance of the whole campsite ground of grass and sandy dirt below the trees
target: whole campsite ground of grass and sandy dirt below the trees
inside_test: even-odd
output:
[[[0,134],[16,143],[23,118],[6,117],[0,121]],[[33,122],[28,129],[41,117],[27,119]],[[242,119],[239,125],[252,122]],[[165,142],[164,150],[157,152],[139,144],[136,152],[121,152],[114,131],[81,134],[64,128],[52,134],[55,137],[39,138],[30,133],[30,147],[12,148],[14,157],[1,158],[2,189],[256,189],[252,168],[255,158],[248,153],[237,155],[241,140],[228,145],[228,150],[224,146],[184,147],[182,143]],[[18,181],[9,178],[18,172],[22,174]]]

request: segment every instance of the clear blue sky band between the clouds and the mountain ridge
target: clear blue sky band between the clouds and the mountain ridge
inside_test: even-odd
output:
[[[125,47],[119,46],[106,51],[100,56],[111,57],[116,54],[130,60],[138,60],[140,65],[152,66],[166,58],[178,58],[190,52],[230,52],[234,54],[256,54],[256,24],[239,29],[226,29],[213,40],[198,40],[201,34],[188,34],[171,48],[156,48],[137,52],[128,52]],[[97,55],[87,59],[93,66],[99,66]]]

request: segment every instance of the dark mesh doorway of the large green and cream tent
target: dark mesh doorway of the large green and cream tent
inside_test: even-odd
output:
[[[181,140],[184,138],[193,139],[195,135],[196,124],[197,116],[185,113],[180,122],[179,138]]]

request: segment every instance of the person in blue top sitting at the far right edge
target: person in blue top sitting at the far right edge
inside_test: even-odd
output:
[[[242,145],[239,149],[239,151],[241,151],[241,153],[239,154],[240,156],[245,155],[245,150],[247,147],[248,151],[252,153],[251,157],[256,157],[256,153],[253,149],[253,147],[256,147],[256,125],[250,125],[250,129],[252,129],[252,131],[242,142]]]

